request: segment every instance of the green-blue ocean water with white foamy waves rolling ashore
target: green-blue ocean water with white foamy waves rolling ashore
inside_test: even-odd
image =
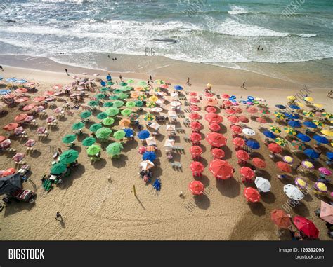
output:
[[[240,69],[333,58],[332,0],[3,0],[0,11],[0,54],[63,53],[85,67],[83,53],[153,51]]]

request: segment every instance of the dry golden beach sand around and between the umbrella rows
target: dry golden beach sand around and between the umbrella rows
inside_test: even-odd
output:
[[[39,65],[40,66],[40,65]],[[193,65],[194,66],[194,65]],[[193,67],[192,66],[192,67]],[[24,66],[28,67],[28,66]],[[71,83],[73,80],[65,72],[50,72],[37,69],[24,69],[4,66],[5,72],[1,74],[6,78],[15,76],[26,78],[29,81],[40,83],[39,93],[52,88],[55,84]],[[50,66],[44,69],[48,70]],[[195,68],[195,67],[193,67]],[[267,100],[271,111],[275,110],[275,104],[285,104],[287,95],[295,95],[302,85],[295,85],[281,80],[275,80],[267,76],[247,73],[246,71],[235,71],[218,68],[206,72],[191,69],[189,75],[184,67],[167,67],[163,72],[155,69],[153,72],[123,74],[126,78],[143,78],[147,80],[149,74],[153,79],[162,78],[174,84],[185,85],[188,76],[191,77],[192,86],[184,86],[186,91],[197,91],[202,93],[205,83],[212,83],[214,93],[228,93],[237,97],[254,95]],[[43,69],[43,68],[41,68]],[[63,66],[54,64],[55,71],[62,71]],[[74,70],[73,70],[74,69]],[[194,75],[197,71],[197,75]],[[82,72],[89,74],[103,71],[84,70],[70,68],[70,72],[81,76]],[[111,73],[117,76],[118,73]],[[220,78],[216,78],[216,76]],[[126,80],[126,78],[124,78]],[[117,78],[116,78],[117,79]],[[178,79],[178,80],[177,80]],[[242,81],[246,81],[246,90],[240,88]],[[327,89],[310,88],[311,97],[315,102],[324,104],[327,111],[332,112],[332,100],[326,97]],[[183,102],[182,102],[183,103]],[[61,107],[63,102],[57,102]],[[199,104],[202,106],[202,104]],[[105,108],[101,108],[105,109]],[[86,156],[81,140],[87,137],[89,126],[84,129],[84,134],[78,137],[77,146],[79,151],[79,167],[75,169],[70,177],[64,179],[63,184],[54,186],[45,193],[41,187],[41,176],[51,166],[53,147],[61,147],[63,151],[66,146],[62,144],[61,137],[70,133],[70,125],[79,121],[81,109],[74,111],[74,116],[66,116],[63,121],[58,122],[56,130],[49,130],[48,139],[38,141],[35,147],[37,152],[27,155],[25,161],[32,167],[32,175],[25,182],[25,189],[37,191],[37,199],[31,203],[11,203],[0,213],[0,240],[289,240],[289,233],[281,236],[277,234],[276,226],[270,221],[270,211],[282,209],[286,203],[287,196],[283,193],[284,184],[293,184],[291,178],[280,181],[276,178],[278,169],[275,163],[268,157],[268,149],[263,144],[263,135],[259,133],[259,123],[250,119],[249,127],[258,133],[254,138],[261,144],[261,149],[256,151],[266,160],[267,167],[261,172],[261,176],[270,180],[272,191],[261,194],[260,203],[247,203],[243,196],[244,184],[240,182],[239,165],[235,158],[235,150],[226,114],[223,116],[223,127],[221,133],[228,138],[227,146],[223,147],[226,152],[225,159],[235,167],[235,178],[226,181],[216,181],[208,170],[208,164],[212,160],[209,151],[210,145],[202,142],[204,153],[202,162],[205,165],[204,177],[201,181],[206,187],[206,196],[193,197],[188,190],[188,184],[192,181],[190,172],[191,156],[189,153],[190,143],[184,142],[183,137],[190,134],[190,128],[183,125],[185,133],[178,133],[176,145],[184,146],[185,153],[179,153],[174,158],[183,165],[182,171],[174,170],[166,158],[164,152],[164,140],[166,139],[165,128],[160,130],[158,139],[159,151],[157,153],[156,167],[153,169],[154,177],[160,177],[162,190],[159,195],[152,190],[152,185],[146,185],[138,175],[138,165],[141,155],[138,153],[140,141],[129,142],[124,145],[122,156],[119,159],[107,157],[105,151],[102,160],[91,165]],[[204,115],[205,111],[200,111]],[[20,113],[17,108],[10,109],[7,116],[1,117],[1,126],[13,121]],[[51,110],[47,109],[51,114]],[[244,111],[249,117],[249,114]],[[187,113],[184,114],[188,116]],[[270,116],[272,118],[272,116]],[[92,121],[97,121],[91,116]],[[37,119],[39,125],[45,125],[45,121]],[[202,118],[204,125],[202,133],[209,132],[207,121]],[[88,125],[88,124],[87,124]],[[268,127],[271,123],[262,125]],[[115,126],[119,129],[119,125]],[[35,137],[36,128],[27,128],[29,137]],[[4,130],[0,130],[0,135]],[[284,134],[283,134],[284,135]],[[18,151],[25,151],[25,141],[13,139],[11,147]],[[107,144],[106,144],[107,145]],[[102,144],[103,149],[105,149]],[[254,154],[256,154],[254,153]],[[14,167],[11,154],[0,157],[0,170]],[[298,154],[299,156],[299,154]],[[295,157],[296,158],[296,157]],[[324,156],[322,156],[324,158]],[[302,156],[296,158],[296,161]],[[325,160],[319,164],[325,165]],[[313,179],[306,178],[310,184]],[[136,195],[133,196],[133,185],[136,186]],[[185,198],[180,198],[179,193],[183,191]],[[329,187],[332,191],[332,186]],[[313,220],[320,230],[320,239],[328,240],[325,222],[315,217],[313,213],[320,207],[320,200],[310,193],[301,201],[301,204],[290,211],[294,216],[299,214]],[[55,220],[55,213],[60,212],[63,222]]]

